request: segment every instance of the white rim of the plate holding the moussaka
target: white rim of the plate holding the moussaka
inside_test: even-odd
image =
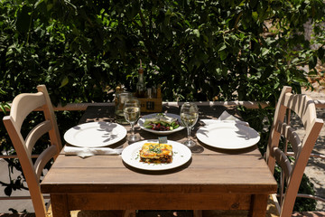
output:
[[[167,144],[170,144],[172,146],[176,145],[177,147],[181,147],[183,148],[183,150],[186,150],[186,154],[184,154],[184,158],[181,161],[181,163],[178,163],[177,165],[172,165],[174,161],[172,161],[171,164],[146,164],[146,163],[142,163],[141,165],[143,166],[139,166],[138,164],[132,164],[132,162],[134,162],[134,160],[132,160],[132,156],[130,157],[130,154],[134,154],[137,149],[140,150],[140,148],[144,145],[144,143],[146,142],[155,142],[158,143],[158,139],[145,139],[145,140],[141,140],[138,141],[134,144],[131,144],[130,146],[126,146],[125,149],[122,151],[121,154],[121,158],[123,160],[123,162],[125,162],[126,165],[132,166],[136,169],[140,169],[140,170],[145,170],[145,171],[165,171],[165,170],[170,170],[170,169],[174,169],[177,167],[180,167],[181,165],[185,165],[186,163],[188,163],[190,161],[191,158],[191,151],[190,148],[177,142],[177,141],[173,141],[173,140],[168,140]],[[174,150],[172,150],[174,152]],[[129,153],[128,153],[129,152]],[[163,166],[164,165],[164,166]],[[162,167],[163,166],[163,167]]]

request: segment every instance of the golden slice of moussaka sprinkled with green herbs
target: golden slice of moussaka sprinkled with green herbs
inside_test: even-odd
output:
[[[144,143],[140,150],[140,161],[144,163],[172,163],[172,146],[159,143]]]

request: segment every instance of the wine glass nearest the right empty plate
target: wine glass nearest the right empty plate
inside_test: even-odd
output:
[[[187,128],[188,139],[183,144],[189,147],[195,146],[195,141],[190,139],[190,130],[199,118],[198,106],[193,102],[185,102],[181,106],[181,123]]]

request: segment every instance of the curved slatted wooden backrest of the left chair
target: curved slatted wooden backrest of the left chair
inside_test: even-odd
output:
[[[46,208],[40,188],[40,177],[44,166],[51,158],[55,159],[59,155],[62,145],[49,93],[45,85],[39,85],[37,90],[37,93],[22,93],[16,96],[10,115],[4,117],[4,123],[22,165],[35,214],[37,217],[45,217]],[[21,133],[23,120],[34,109],[43,111],[44,121],[33,127],[29,134],[23,137]],[[51,146],[43,150],[33,164],[32,147],[46,133],[49,133]]]

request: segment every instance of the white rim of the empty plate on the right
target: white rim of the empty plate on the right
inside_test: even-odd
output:
[[[204,134],[201,133],[201,131],[203,129],[207,129],[209,127],[222,127],[222,125],[226,125],[226,126],[231,126],[231,127],[237,127],[239,129],[243,129],[246,130],[246,132],[249,130],[250,132],[255,132],[255,134],[257,135],[257,137],[255,137],[254,139],[252,139],[252,142],[247,142],[245,144],[245,146],[241,146],[241,147],[234,147],[234,146],[218,146],[218,144],[210,144],[207,143],[206,140],[204,139]],[[248,130],[247,130],[248,129]],[[257,144],[261,138],[260,134],[252,127],[248,127],[242,124],[236,124],[236,123],[224,123],[224,122],[220,122],[220,123],[215,123],[215,124],[211,124],[208,126],[203,126],[200,127],[197,132],[196,132],[196,137],[198,138],[198,140],[200,140],[200,142],[202,142],[203,144],[207,145],[207,146],[212,146],[212,147],[217,147],[217,148],[221,148],[221,149],[228,149],[228,150],[237,150],[237,149],[244,149],[250,146],[255,146],[255,144]],[[249,140],[249,139],[248,139]]]

